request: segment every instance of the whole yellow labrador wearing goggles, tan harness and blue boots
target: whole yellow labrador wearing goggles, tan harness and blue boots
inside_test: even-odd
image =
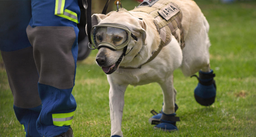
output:
[[[202,105],[210,105],[215,99],[216,86],[209,60],[209,24],[200,8],[192,0],[144,1],[132,11],[119,9],[107,15],[92,16],[92,45],[99,50],[96,62],[108,74],[110,84],[111,137],[123,137],[124,94],[129,84],[157,82],[161,86],[162,113],[152,117],[150,122],[164,131],[177,130],[176,121],[179,121],[175,117],[175,69],[180,68],[185,76],[200,71],[198,88],[203,87],[195,89],[195,98]],[[177,21],[177,26],[171,29],[169,20],[178,13],[182,14],[182,18],[178,18],[181,24]],[[168,28],[161,30],[161,23],[167,24],[172,34]],[[182,43],[186,46],[182,47]],[[212,91],[213,86],[215,91]],[[207,95],[203,93],[208,90]]]

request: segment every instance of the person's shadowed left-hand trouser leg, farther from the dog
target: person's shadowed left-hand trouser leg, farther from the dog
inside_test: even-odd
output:
[[[26,137],[40,137],[36,128],[42,108],[37,88],[39,77],[26,34],[31,2],[1,0],[0,12],[0,50],[14,96],[14,112]]]

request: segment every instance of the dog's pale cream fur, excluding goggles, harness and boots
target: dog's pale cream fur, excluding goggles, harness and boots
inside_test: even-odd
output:
[[[163,47],[154,60],[142,66],[141,69],[117,69],[113,74],[107,75],[110,84],[110,118],[111,135],[120,135],[124,93],[128,84],[137,86],[157,82],[163,90],[163,112],[174,113],[176,90],[173,86],[173,72],[181,68],[185,76],[190,76],[200,69],[210,71],[208,38],[209,24],[197,4],[192,0],[171,0],[182,11],[182,26],[186,47],[181,50],[179,42],[172,36],[172,41]],[[139,20],[138,18],[143,18]],[[138,67],[146,62],[152,51],[156,51],[160,44],[160,36],[150,15],[144,12],[110,12],[107,15],[94,14],[93,25],[102,23],[122,24],[137,36],[138,41],[131,39],[121,66]],[[145,39],[146,38],[146,39]],[[145,44],[145,45],[144,45]],[[134,46],[135,45],[135,46]],[[112,65],[121,56],[123,50],[112,51],[105,47],[104,52]],[[140,52],[138,54],[138,52]],[[98,54],[99,54],[98,53]],[[137,57],[135,57],[138,54]],[[135,58],[134,58],[135,57]]]

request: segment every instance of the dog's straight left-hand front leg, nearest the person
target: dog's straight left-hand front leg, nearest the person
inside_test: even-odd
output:
[[[124,95],[127,86],[128,85],[110,83],[109,105],[111,120],[111,137],[123,137],[121,124],[123,116],[123,105],[125,104]]]

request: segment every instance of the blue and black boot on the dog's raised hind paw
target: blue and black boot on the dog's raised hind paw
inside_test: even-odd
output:
[[[191,77],[197,77],[192,75]],[[199,71],[199,77],[197,77],[199,83],[194,91],[195,100],[204,106],[212,105],[216,97],[216,84],[213,79],[215,74],[213,70],[210,72]]]

